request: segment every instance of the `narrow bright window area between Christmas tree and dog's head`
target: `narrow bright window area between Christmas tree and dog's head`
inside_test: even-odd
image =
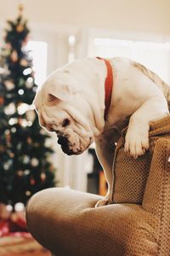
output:
[[[41,41],[29,41],[27,49],[31,50],[33,69],[35,71],[35,83],[41,85],[47,76],[48,44]]]

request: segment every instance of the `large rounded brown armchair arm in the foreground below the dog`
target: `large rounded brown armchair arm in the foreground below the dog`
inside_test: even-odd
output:
[[[156,255],[159,218],[134,204],[95,208],[99,198],[75,190],[43,190],[28,203],[28,228],[54,255]]]

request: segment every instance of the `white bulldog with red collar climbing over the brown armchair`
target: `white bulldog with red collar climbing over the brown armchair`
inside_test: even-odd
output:
[[[170,87],[144,66],[112,58],[111,104],[105,116],[105,60],[74,61],[52,73],[37,91],[34,103],[40,124],[55,131],[65,154],[81,154],[91,143],[104,168],[111,199],[112,163],[117,135],[128,123],[125,151],[134,158],[149,148],[150,121],[169,114]]]

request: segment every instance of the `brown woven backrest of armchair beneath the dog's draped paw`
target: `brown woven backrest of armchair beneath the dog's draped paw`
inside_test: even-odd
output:
[[[164,119],[150,123],[150,148],[137,160],[124,152],[126,131],[127,129],[123,131],[122,137],[116,145],[111,201],[113,203],[131,202],[141,204],[156,141],[162,136],[170,139],[170,117],[167,116]]]

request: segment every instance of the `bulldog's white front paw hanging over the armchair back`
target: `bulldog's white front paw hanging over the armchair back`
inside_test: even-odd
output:
[[[135,159],[143,155],[149,148],[149,135],[147,127],[127,129],[125,137],[125,151],[132,155]]]

